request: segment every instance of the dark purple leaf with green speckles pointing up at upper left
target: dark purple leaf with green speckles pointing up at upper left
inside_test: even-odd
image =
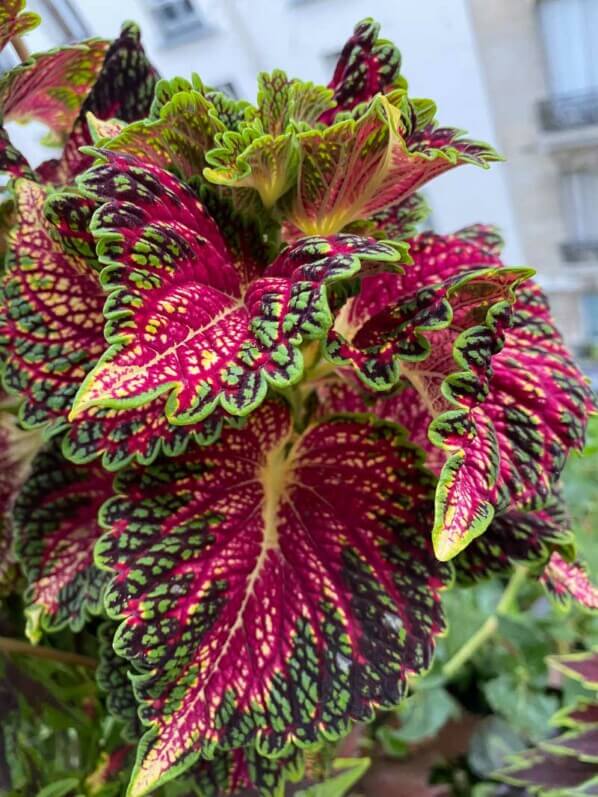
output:
[[[65,184],[89,168],[93,158],[79,151],[93,143],[87,115],[99,119],[118,117],[134,122],[145,117],[152,103],[158,75],[149,63],[138,27],[129,22],[108,48],[101,71],[79,110],[59,159],[45,161],[38,167],[44,182]]]

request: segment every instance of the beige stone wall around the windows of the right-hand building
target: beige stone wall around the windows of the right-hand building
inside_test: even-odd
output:
[[[535,0],[469,0],[469,8],[526,264],[537,270],[566,339],[579,345],[581,296],[598,291],[598,266],[561,258],[567,230],[560,173],[596,163],[598,138],[583,128],[541,129],[537,106],[549,91]]]

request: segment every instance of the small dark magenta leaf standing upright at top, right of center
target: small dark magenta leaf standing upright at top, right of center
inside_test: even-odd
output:
[[[336,107],[320,121],[330,124],[337,113],[350,111],[390,88],[399,76],[401,53],[386,39],[379,39],[380,25],[371,18],[358,22],[345,43],[329,83]]]

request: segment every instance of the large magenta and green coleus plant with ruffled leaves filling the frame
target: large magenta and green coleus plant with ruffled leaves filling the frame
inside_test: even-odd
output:
[[[416,232],[498,156],[378,33],[255,105],[159,80],[132,24],[0,80],[62,145],[1,139],[2,589],[34,643],[106,618],[136,797],[282,794],[430,665],[455,579],[596,606],[559,494],[591,391],[493,228]]]

